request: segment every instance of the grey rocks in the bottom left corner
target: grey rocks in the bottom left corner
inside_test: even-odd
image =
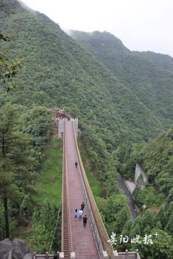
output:
[[[32,259],[33,252],[24,240],[18,238],[10,241],[8,238],[0,242],[1,259]]]

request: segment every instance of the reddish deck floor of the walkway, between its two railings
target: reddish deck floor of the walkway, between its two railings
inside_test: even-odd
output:
[[[75,209],[80,209],[81,203],[84,201],[82,187],[78,170],[75,167],[76,149],[73,136],[73,125],[71,121],[65,122],[65,139],[66,139],[66,170],[67,183],[69,193],[69,213],[70,213],[70,228],[72,239],[72,251],[75,252],[76,258],[99,258],[93,232],[91,229],[90,220],[88,220],[86,228],[83,227],[83,220],[77,218],[74,220]],[[83,210],[89,218],[86,208]],[[83,216],[83,215],[82,215]]]

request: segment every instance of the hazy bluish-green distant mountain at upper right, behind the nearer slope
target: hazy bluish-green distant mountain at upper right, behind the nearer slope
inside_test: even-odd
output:
[[[128,50],[110,33],[70,31],[168,127],[172,121],[173,58]],[[166,100],[166,102],[165,102]]]

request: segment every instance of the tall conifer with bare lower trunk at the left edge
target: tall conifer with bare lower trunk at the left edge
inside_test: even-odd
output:
[[[9,238],[8,199],[17,200],[21,191],[32,188],[34,175],[30,171],[27,153],[28,137],[16,131],[14,106],[0,110],[0,195],[4,202],[6,238]]]

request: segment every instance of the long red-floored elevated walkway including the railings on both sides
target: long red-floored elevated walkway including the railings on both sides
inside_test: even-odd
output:
[[[63,159],[62,251],[65,258],[70,258],[71,252],[75,252],[75,258],[98,259],[104,250],[110,257],[113,249],[107,242],[109,237],[85,176],[73,120],[64,121]],[[82,202],[85,204],[83,214],[88,217],[86,228],[82,219],[74,219],[74,211],[80,209]]]

